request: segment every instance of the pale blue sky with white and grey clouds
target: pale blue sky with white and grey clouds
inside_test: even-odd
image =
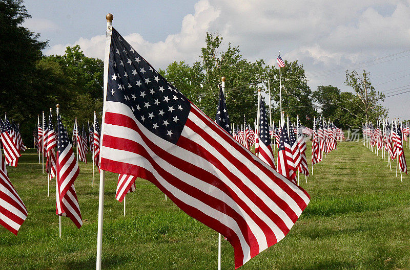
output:
[[[362,1],[67,1],[26,0],[24,26],[49,40],[46,55],[79,44],[104,57],[107,13],[113,26],[157,70],[199,59],[206,33],[239,46],[244,58],[303,64],[312,91],[345,85],[345,71],[370,72],[389,117],[410,119],[410,0]],[[229,78],[227,78],[229,80]],[[407,92],[407,93],[406,93]]]

